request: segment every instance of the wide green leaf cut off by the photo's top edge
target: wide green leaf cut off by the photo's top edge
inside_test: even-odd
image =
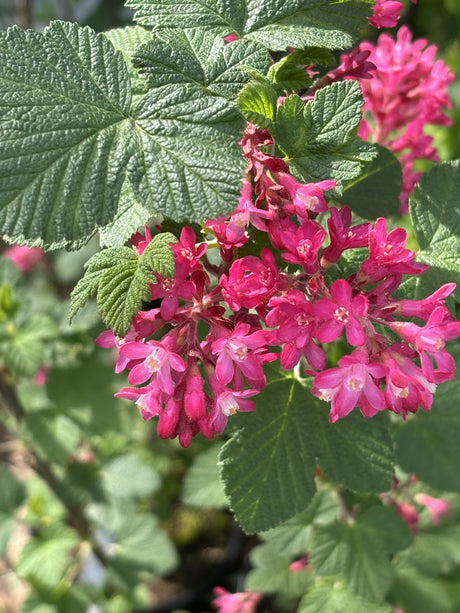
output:
[[[371,14],[367,2],[349,0],[128,0],[127,5],[139,23],[155,29],[206,27],[215,36],[235,33],[273,50],[345,48]]]

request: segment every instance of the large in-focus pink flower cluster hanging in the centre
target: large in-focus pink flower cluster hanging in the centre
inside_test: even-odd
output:
[[[445,342],[460,336],[460,323],[444,301],[454,284],[424,300],[395,298],[403,275],[427,268],[406,248],[406,232],[389,232],[383,218],[353,225],[347,207],[328,208],[333,181],[299,183],[265,152],[271,144],[268,132],[248,124],[237,210],[208,221],[202,242],[183,228],[172,247],[174,278],[157,274],[151,285],[159,306],[140,311],[125,338],[108,331],[97,339],[117,348],[116,371],[129,371],[130,387],[117,396],[135,401],[145,419],[158,417],[158,435],[183,446],[254,410],[264,366],[277,358],[285,370],[305,365],[312,393],[331,402],[331,422],[354,407],[366,417],[429,410],[436,385],[453,378]],[[245,254],[250,236],[270,248]],[[137,235],[136,251],[149,240]],[[208,258],[211,247],[219,263]],[[333,265],[350,249],[361,249],[361,263],[334,278]],[[418,324],[406,321],[414,317]],[[329,368],[325,345],[340,338],[350,353]]]

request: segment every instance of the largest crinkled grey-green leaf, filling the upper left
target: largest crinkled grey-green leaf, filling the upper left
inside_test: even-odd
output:
[[[256,53],[256,46],[245,41],[238,58],[223,44],[214,49],[207,69],[222,95],[180,63],[165,64],[162,86],[144,96],[136,77],[133,111],[133,68],[108,40],[124,52],[146,40],[144,32],[131,34],[106,37],[62,22],[44,34],[0,33],[0,232],[7,240],[80,246],[123,214],[126,169],[150,215],[200,222],[236,207],[244,122],[225,96],[242,50],[252,45]],[[204,37],[193,38],[190,53]],[[149,61],[162,65],[171,44],[157,42]],[[174,70],[182,82],[169,78]]]

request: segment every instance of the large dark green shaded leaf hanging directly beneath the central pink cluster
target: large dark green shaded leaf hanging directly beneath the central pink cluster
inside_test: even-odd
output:
[[[275,366],[268,381],[256,412],[238,416],[241,427],[220,455],[225,492],[244,530],[262,532],[303,511],[315,492],[318,463],[351,489],[391,488],[386,416],[366,419],[355,411],[330,424],[327,405],[307,385]]]

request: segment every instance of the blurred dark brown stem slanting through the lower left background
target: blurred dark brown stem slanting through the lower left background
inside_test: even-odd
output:
[[[21,423],[25,417],[25,411],[17,396],[16,390],[5,381],[2,374],[0,374],[0,406],[11,413],[18,423]],[[65,507],[68,513],[69,523],[72,528],[82,540],[90,542],[94,555],[103,565],[105,565],[107,563],[107,555],[101,549],[101,547],[93,541],[91,525],[88,522],[83,509],[79,505],[71,504],[66,499],[65,485],[56,475],[52,466],[37,455],[32,449],[28,449],[28,452],[31,459],[31,467],[37,473],[37,475],[39,475],[43,481],[45,481],[51,491]]]

